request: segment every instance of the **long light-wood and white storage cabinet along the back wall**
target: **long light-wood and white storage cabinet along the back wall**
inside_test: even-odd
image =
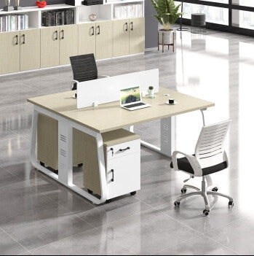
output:
[[[144,53],[144,3],[127,0],[93,6],[52,4],[0,11],[0,75],[68,65],[73,55],[94,53],[101,60]],[[44,12],[67,9],[74,15],[73,25],[41,25]],[[90,21],[90,14],[97,15],[94,22]],[[3,29],[1,17],[7,16],[12,16],[12,24],[16,25]],[[21,16],[25,18],[25,29],[18,25]]]

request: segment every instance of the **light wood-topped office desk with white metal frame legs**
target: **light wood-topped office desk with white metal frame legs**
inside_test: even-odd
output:
[[[170,94],[164,96],[164,94]],[[73,91],[55,93],[48,96],[29,98],[28,102],[34,105],[32,137],[31,137],[31,163],[40,171],[58,182],[66,185],[79,195],[84,196],[93,203],[103,203],[106,195],[106,171],[103,153],[103,139],[101,133],[114,131],[118,128],[132,127],[138,123],[146,123],[152,120],[161,120],[161,147],[141,141],[146,147],[156,150],[164,155],[170,156],[174,150],[175,141],[175,115],[195,110],[207,109],[214,104],[199,98],[187,96],[166,88],[159,88],[156,98],[144,97],[143,101],[151,104],[151,107],[128,111],[119,106],[119,101],[102,104],[97,107],[76,109],[76,100],[71,98]],[[175,98],[178,104],[169,106],[166,104],[168,98]],[[36,159],[36,129],[38,113],[42,113],[58,121],[58,175],[41,166]],[[203,113],[202,113],[203,114]],[[101,198],[90,195],[86,191],[73,184],[72,166],[72,129],[76,128],[84,133],[94,136],[98,148],[98,164],[100,171]]]

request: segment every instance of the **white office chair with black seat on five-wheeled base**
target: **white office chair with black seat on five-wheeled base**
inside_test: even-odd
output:
[[[181,190],[182,195],[175,201],[175,206],[179,206],[183,198],[187,198],[191,195],[202,195],[205,200],[205,210],[203,211],[205,215],[208,215],[210,212],[210,204],[207,195],[220,195],[228,198],[229,207],[234,206],[231,196],[218,193],[218,187],[206,187],[205,183],[205,177],[217,171],[222,171],[229,166],[228,157],[224,150],[224,140],[229,130],[230,123],[231,120],[227,120],[214,125],[203,126],[194,155],[187,155],[180,151],[172,153],[171,168],[174,168],[175,171],[183,171],[191,177],[202,177],[201,191],[197,187],[184,185]],[[184,158],[177,158],[178,154],[183,155]],[[197,192],[186,194],[187,187],[197,190]]]

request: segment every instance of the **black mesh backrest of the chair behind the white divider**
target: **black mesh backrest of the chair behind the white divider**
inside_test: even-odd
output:
[[[70,57],[74,80],[84,82],[98,79],[98,70],[95,62],[95,55],[85,54]]]

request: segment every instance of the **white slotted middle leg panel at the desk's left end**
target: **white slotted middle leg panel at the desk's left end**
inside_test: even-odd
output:
[[[58,179],[72,185],[72,127],[64,120],[58,121]]]

